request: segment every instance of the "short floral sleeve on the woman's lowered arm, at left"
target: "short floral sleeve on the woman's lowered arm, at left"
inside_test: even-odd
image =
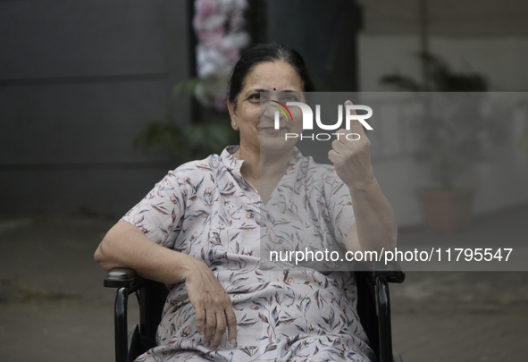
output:
[[[181,231],[184,211],[185,194],[175,173],[170,172],[121,220],[137,226],[155,243],[173,248]]]

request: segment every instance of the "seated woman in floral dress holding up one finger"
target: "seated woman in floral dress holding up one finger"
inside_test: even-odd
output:
[[[106,271],[130,267],[171,288],[159,346],[139,361],[373,358],[356,316],[353,274],[260,267],[260,229],[272,229],[276,218],[312,220],[298,229],[331,235],[352,251],[396,244],[395,218],[373,175],[361,125],[338,131],[361,139],[333,141],[328,156],[334,169],[300,155],[295,140],[284,141],[300,122],[281,119],[274,130],[272,107],[260,105],[261,94],[302,101],[311,90],[296,51],[249,49],[229,86],[239,146],[170,172],[97,248],[96,261]],[[285,200],[288,189],[294,196]],[[266,237],[280,235],[271,230]]]

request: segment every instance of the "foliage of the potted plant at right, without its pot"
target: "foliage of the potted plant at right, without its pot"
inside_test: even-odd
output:
[[[482,115],[482,92],[488,85],[481,74],[453,72],[437,55],[420,56],[429,75],[427,81],[390,74],[383,76],[381,83],[421,92],[423,117],[414,124],[420,139],[417,159],[431,166],[441,189],[454,189],[471,165],[486,158],[489,145],[504,139],[504,125],[498,117]]]

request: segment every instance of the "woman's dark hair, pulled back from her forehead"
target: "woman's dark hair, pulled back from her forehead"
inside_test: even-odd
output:
[[[297,50],[289,46],[281,46],[275,43],[257,44],[247,49],[239,61],[233,67],[230,82],[227,89],[227,97],[234,105],[239,97],[240,90],[244,88],[247,74],[259,63],[283,61],[289,63],[298,72],[301,78],[301,87],[305,92],[315,90],[314,83],[310,79],[306,63]]]

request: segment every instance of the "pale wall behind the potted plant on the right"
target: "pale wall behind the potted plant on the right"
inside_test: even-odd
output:
[[[365,26],[358,39],[359,90],[393,90],[382,86],[380,79],[395,72],[421,80],[416,57],[420,50],[419,2],[361,0],[361,4]],[[440,55],[455,72],[482,73],[490,90],[528,89],[527,4],[515,0],[428,4],[433,54]],[[466,174],[465,185],[477,190],[477,215],[528,202],[528,150],[519,145],[519,134],[528,130],[528,116],[515,117],[505,117],[508,137],[494,150],[494,156]],[[421,223],[416,191],[432,186],[428,170],[412,156],[409,144],[414,139],[412,132],[397,124],[382,124],[373,131],[376,175],[396,211],[398,224],[403,226]]]

